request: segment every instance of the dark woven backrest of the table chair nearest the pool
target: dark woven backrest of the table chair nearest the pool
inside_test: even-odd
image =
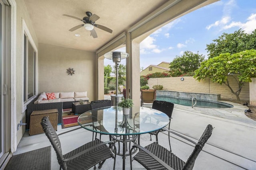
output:
[[[166,101],[160,101],[160,100],[155,100],[152,106],[152,109],[162,111],[163,113],[168,115],[170,118],[172,117],[173,108],[174,108],[174,104],[172,102],[166,102]]]

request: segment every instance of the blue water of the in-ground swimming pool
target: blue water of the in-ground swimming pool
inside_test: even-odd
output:
[[[192,99],[188,98],[179,98],[176,96],[156,96],[156,100],[163,100],[166,102],[172,102],[174,104],[180,104],[184,106],[192,106]],[[231,104],[226,104],[223,102],[216,102],[210,100],[198,100],[194,107],[203,107],[203,108],[230,108],[234,107]]]

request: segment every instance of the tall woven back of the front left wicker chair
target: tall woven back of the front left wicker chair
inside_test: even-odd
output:
[[[50,120],[48,117],[43,117],[41,121],[41,125],[43,127],[45,135],[48,137],[50,140],[50,143],[52,144],[52,147],[54,148],[56,154],[57,154],[57,159],[58,163],[63,169],[66,169],[66,164],[63,163],[63,155],[62,155],[62,150],[61,150],[61,145],[60,145],[60,139],[53,128]],[[64,167],[63,167],[64,166]]]

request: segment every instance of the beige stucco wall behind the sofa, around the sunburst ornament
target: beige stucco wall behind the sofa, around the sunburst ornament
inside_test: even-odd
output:
[[[39,44],[38,50],[38,93],[87,91],[90,101],[94,100],[97,77],[96,54],[93,52]],[[74,68],[72,76],[66,69]]]

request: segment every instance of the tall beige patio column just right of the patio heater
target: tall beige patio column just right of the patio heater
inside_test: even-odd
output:
[[[140,106],[140,43],[131,41],[131,34],[126,35],[126,93],[133,100],[134,106]]]

